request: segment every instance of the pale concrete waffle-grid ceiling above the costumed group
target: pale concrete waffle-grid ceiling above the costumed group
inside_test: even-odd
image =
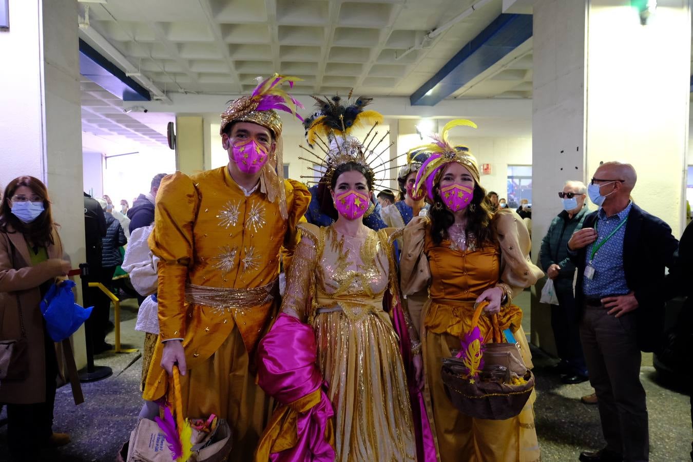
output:
[[[371,96],[410,96],[500,15],[502,0],[485,4],[431,46],[403,53],[478,1],[107,0],[88,5],[91,34],[103,37],[166,93],[241,94],[254,88],[258,75],[278,71],[304,79],[297,82],[297,94],[344,94],[353,88]],[[99,48],[89,34],[82,31],[80,37]],[[504,61],[499,69],[510,60]],[[531,62],[529,55],[495,82],[477,82],[471,93],[455,96],[527,98]]]

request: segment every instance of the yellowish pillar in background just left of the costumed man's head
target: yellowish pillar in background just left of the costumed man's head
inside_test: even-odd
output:
[[[204,121],[199,115],[177,115],[176,127],[176,170],[193,175],[209,168],[205,166]],[[211,159],[211,150],[209,151]]]

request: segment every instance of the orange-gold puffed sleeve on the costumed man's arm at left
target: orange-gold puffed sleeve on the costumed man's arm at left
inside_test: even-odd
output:
[[[193,260],[193,225],[200,199],[190,177],[175,172],[161,180],[149,236],[152,254],[159,257],[160,339],[185,337],[185,283]]]

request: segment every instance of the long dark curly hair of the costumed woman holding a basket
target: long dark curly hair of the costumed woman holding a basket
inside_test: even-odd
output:
[[[439,194],[439,186],[433,188],[433,204],[428,216],[431,220],[431,239],[435,245],[440,245],[444,239],[448,239],[448,228],[455,222],[455,215],[445,206]],[[467,236],[472,234],[478,247],[495,240],[495,233],[491,227],[493,212],[491,201],[486,197],[486,190],[480,184],[474,184],[472,202],[467,206]]]

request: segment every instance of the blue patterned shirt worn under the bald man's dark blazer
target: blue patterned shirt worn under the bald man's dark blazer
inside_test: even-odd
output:
[[[602,242],[615,230],[623,220],[628,217],[633,208],[633,202],[630,202],[626,208],[611,217],[606,217],[604,208],[599,208],[597,212],[597,240],[587,247],[585,263],[590,265],[592,251],[599,242]],[[590,280],[584,278],[585,296],[603,297],[607,295],[624,295],[631,292],[626,284],[626,275],[623,270],[623,238],[626,235],[626,226],[624,223],[618,231],[604,245],[599,248],[592,260],[592,267],[595,269],[595,275]]]

